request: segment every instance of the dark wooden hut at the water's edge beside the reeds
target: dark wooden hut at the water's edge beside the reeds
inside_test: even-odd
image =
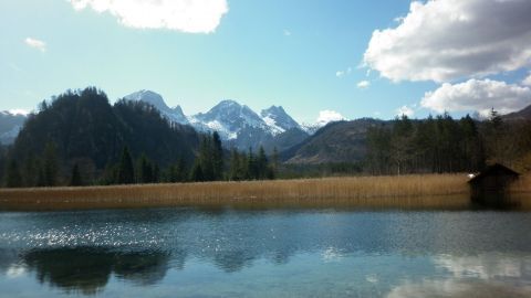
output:
[[[487,167],[468,181],[472,202],[487,206],[508,205],[510,201],[507,189],[519,177],[518,172],[500,163]]]

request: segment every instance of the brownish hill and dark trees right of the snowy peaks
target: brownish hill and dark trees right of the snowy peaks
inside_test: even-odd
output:
[[[529,109],[529,108],[528,108]],[[350,163],[371,174],[476,172],[501,162],[531,170],[531,119],[492,110],[479,121],[444,114],[427,119],[358,119],[330,124],[282,152],[293,164]]]

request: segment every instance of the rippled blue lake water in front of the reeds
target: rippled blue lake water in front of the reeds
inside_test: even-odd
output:
[[[531,213],[0,213],[1,297],[531,297]]]

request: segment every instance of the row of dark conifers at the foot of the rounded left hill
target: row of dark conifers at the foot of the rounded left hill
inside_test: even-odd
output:
[[[100,179],[91,180],[79,163],[73,164],[70,174],[63,174],[55,145],[49,143],[43,157],[33,158],[21,166],[14,159],[7,160],[4,156],[1,157],[0,164],[6,168],[0,174],[4,177],[6,188],[242,181],[277,177],[277,159],[270,159],[262,147],[258,155],[254,155],[252,149],[249,149],[248,153],[232,149],[229,160],[226,160],[225,156],[217,132],[202,137],[201,149],[191,167],[187,167],[185,160],[179,159],[178,162],[162,169],[145,153],[135,159],[128,147],[124,147],[119,160],[108,164]]]

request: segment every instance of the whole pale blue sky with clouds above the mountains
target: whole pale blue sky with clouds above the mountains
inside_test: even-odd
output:
[[[504,114],[531,104],[529,15],[529,0],[1,1],[0,109],[96,86],[309,124]]]

